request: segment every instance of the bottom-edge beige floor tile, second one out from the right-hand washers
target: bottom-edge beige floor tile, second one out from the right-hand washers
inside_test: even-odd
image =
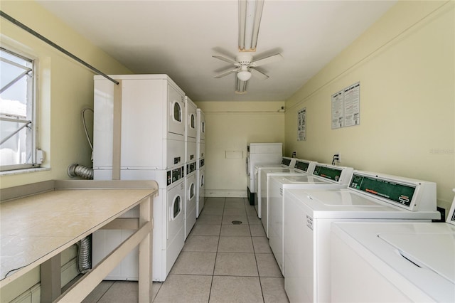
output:
[[[213,277],[210,303],[264,302],[257,277]]]

